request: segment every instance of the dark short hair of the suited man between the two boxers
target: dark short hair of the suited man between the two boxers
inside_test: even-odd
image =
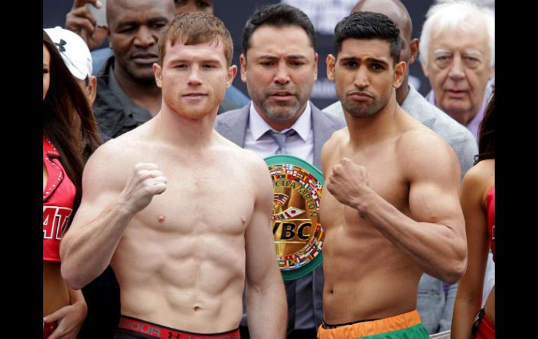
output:
[[[275,27],[298,26],[305,30],[310,45],[316,50],[317,40],[314,25],[308,16],[299,8],[286,3],[277,3],[259,8],[249,17],[243,29],[243,54],[250,48],[250,38],[254,31],[264,24]]]

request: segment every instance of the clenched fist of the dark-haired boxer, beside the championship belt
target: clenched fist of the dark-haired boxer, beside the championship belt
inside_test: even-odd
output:
[[[355,209],[358,209],[364,194],[372,191],[368,185],[366,168],[348,158],[342,158],[333,167],[333,173],[327,180],[327,189],[337,201]]]

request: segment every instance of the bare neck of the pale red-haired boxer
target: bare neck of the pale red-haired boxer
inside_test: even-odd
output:
[[[213,140],[213,124],[217,117],[217,106],[205,117],[198,120],[178,115],[174,110],[162,103],[162,108],[152,120],[156,138],[170,145],[187,150],[201,150],[208,147]]]

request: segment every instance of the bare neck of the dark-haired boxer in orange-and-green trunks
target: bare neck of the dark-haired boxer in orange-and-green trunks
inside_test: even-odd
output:
[[[395,95],[384,108],[370,117],[352,117],[344,110],[351,146],[363,147],[393,135],[398,110],[400,106]]]

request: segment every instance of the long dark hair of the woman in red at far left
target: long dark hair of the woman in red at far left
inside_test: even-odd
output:
[[[47,96],[43,99],[43,135],[49,138],[59,151],[61,165],[75,184],[75,212],[80,205],[85,160],[101,143],[88,99],[45,30],[43,45],[50,53],[50,85]],[[74,115],[80,118],[79,131],[75,130]]]

